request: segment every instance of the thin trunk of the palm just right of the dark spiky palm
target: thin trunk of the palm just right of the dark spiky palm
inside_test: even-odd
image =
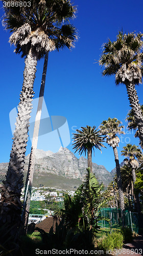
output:
[[[124,210],[125,209],[125,204],[124,204],[120,164],[119,164],[119,161],[118,161],[118,153],[117,153],[116,147],[113,147],[113,152],[114,152],[115,163],[116,163],[116,175],[117,175],[117,186],[118,186],[119,202],[120,202],[121,210]]]

